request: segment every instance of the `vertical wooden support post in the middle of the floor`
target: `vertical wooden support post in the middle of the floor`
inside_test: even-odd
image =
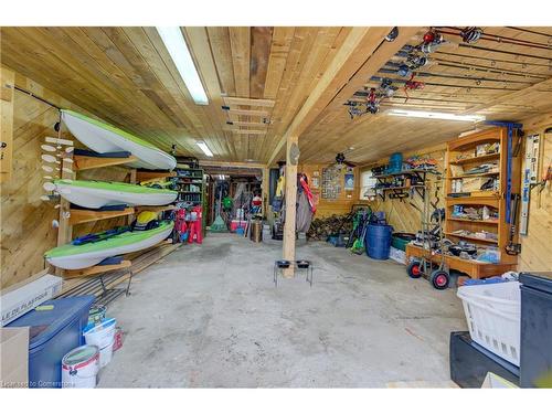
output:
[[[297,136],[288,136],[286,145],[286,222],[284,223],[284,259],[291,262],[291,266],[284,269],[284,277],[295,275],[295,229],[297,213],[297,163],[299,162],[299,147]]]

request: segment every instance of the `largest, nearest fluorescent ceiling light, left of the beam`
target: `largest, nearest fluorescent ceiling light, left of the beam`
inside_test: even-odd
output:
[[[190,92],[190,95],[192,95],[193,102],[198,105],[209,105],[209,98],[180,28],[163,26],[156,29],[164,43],[164,47],[167,47],[167,51],[171,55],[172,62],[174,62],[182,81],[184,81],[185,87]]]

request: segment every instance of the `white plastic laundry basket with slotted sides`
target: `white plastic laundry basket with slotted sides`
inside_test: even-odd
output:
[[[519,367],[521,294],[519,282],[461,286],[471,339]]]

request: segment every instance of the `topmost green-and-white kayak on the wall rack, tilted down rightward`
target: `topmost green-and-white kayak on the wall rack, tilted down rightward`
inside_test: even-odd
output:
[[[96,152],[130,152],[138,158],[128,163],[134,168],[172,170],[177,167],[174,157],[123,129],[67,109],[62,109],[62,120],[76,139]]]

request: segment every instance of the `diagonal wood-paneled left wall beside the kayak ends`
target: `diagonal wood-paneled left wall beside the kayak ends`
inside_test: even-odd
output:
[[[44,136],[55,135],[57,110],[21,93],[14,94],[13,176],[1,184],[1,280],[7,287],[44,268],[43,253],[56,245],[59,217],[44,203],[40,155]],[[67,137],[68,138],[68,137]]]

